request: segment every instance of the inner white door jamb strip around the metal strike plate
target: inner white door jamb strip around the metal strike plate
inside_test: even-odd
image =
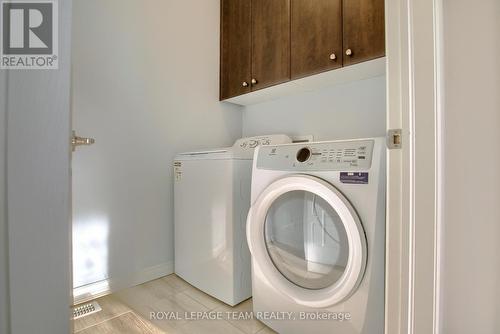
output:
[[[387,128],[402,129],[387,152],[385,333],[408,333],[410,203],[409,35],[407,0],[386,0]]]

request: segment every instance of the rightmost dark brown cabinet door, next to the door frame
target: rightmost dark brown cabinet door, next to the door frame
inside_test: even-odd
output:
[[[344,65],[385,55],[384,0],[343,0]]]

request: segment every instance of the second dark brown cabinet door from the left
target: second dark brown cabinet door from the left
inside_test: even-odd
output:
[[[290,0],[252,0],[252,90],[290,80]]]

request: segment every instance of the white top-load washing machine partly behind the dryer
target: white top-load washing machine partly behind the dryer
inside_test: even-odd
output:
[[[175,158],[177,275],[229,305],[251,296],[245,223],[253,153],[259,145],[291,141],[285,135],[243,138],[229,148]]]

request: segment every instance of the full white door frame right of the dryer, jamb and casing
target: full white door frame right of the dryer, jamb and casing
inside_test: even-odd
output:
[[[386,0],[386,334],[439,332],[442,0]]]

